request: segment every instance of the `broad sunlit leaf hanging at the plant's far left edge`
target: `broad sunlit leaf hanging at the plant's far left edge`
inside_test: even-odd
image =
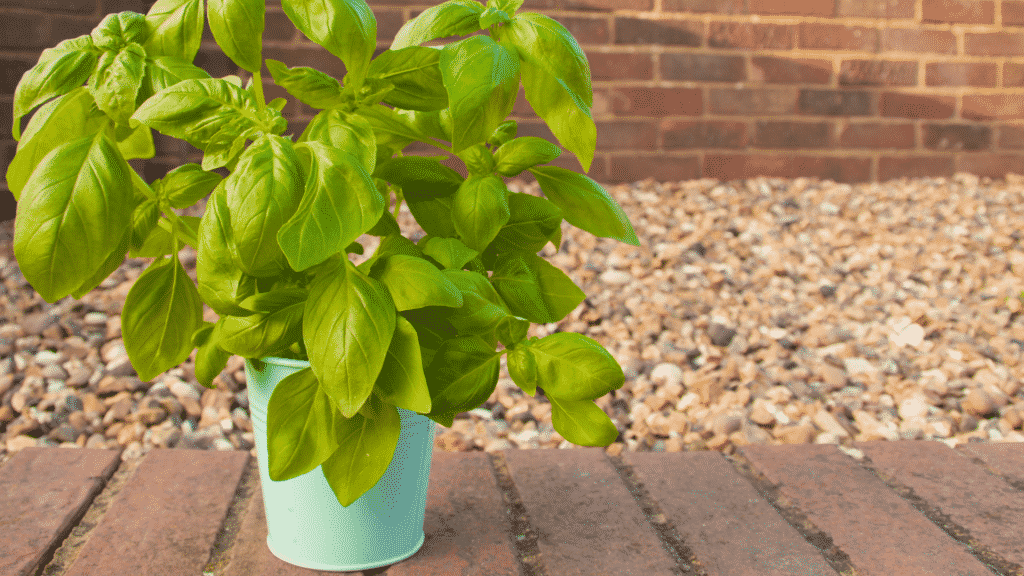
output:
[[[47,154],[22,189],[14,256],[47,302],[71,294],[119,247],[134,208],[131,168],[103,133]]]

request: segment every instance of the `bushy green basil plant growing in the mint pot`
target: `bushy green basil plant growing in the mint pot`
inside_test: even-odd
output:
[[[492,395],[502,354],[526,394],[543,386],[562,437],[610,444],[615,426],[594,400],[625,381],[614,358],[581,334],[526,337],[530,323],[558,322],[585,297],[538,252],[561,244],[562,219],[639,241],[597,182],[542,166],[558,146],[516,137],[505,120],[521,80],[589,170],[596,127],[586,55],[554,19],[516,13],[521,5],[444,2],[374,58],[377,23],[365,0],[282,0],[295,27],[344,64],[341,82],[263,59],[262,0],[158,0],[144,15],[105,16],[91,34],[44,50],[14,94],[7,181],[22,273],[55,302],[81,298],[126,254],[155,258],[121,317],[142,380],[194,348],[207,387],[231,355],[307,361],[269,401],[270,478],[323,465],[344,506],[387,469],[396,408],[451,426]],[[204,16],[249,82],[193,64]],[[465,38],[421,45],[451,36]],[[295,139],[285,134],[286,100],[264,99],[264,64],[319,111]],[[144,181],[126,161],[154,156],[153,130],[203,151],[202,164]],[[402,156],[413,141],[457,156],[469,177],[437,157]],[[506,188],[523,170],[546,198]],[[204,198],[202,217],[175,212]],[[419,242],[401,235],[402,202],[427,232]],[[380,245],[354,265],[348,254],[362,254],[364,234]],[[178,260],[184,245],[197,251],[198,283]],[[216,323],[204,321],[204,302]]]

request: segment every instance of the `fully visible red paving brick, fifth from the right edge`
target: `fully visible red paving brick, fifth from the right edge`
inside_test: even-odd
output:
[[[669,575],[666,552],[600,448],[505,450],[548,574]]]

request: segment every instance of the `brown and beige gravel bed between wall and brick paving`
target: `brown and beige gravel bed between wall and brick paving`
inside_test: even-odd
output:
[[[509,188],[543,196],[537,183]],[[529,336],[582,333],[623,366],[625,385],[597,401],[621,433],[610,453],[1024,441],[1024,177],[605,189],[641,246],[563,222],[562,245],[542,255],[587,298]],[[399,216],[422,238],[408,208]],[[135,375],[120,312],[152,258],[48,304],[18,272],[11,235],[0,223],[0,463],[27,446],[255,454],[241,358],[215,390],[196,381],[193,359],[150,382]],[[356,263],[379,242],[359,241]],[[195,251],[180,258],[195,280]],[[574,448],[504,358],[500,376],[481,408],[437,426],[437,449]]]

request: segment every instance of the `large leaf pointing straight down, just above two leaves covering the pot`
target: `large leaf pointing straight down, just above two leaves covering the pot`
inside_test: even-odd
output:
[[[302,338],[313,373],[346,418],[370,397],[396,314],[387,288],[347,259],[309,286]]]

